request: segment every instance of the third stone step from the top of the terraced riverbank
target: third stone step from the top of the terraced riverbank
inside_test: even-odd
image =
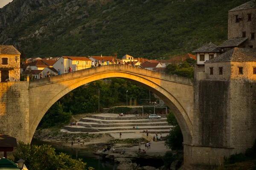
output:
[[[114,124],[99,124],[94,122],[77,122],[79,126],[84,127],[122,127],[122,126],[135,126],[135,127],[141,127],[141,126],[167,126],[167,122],[130,122],[130,123],[114,123]]]

